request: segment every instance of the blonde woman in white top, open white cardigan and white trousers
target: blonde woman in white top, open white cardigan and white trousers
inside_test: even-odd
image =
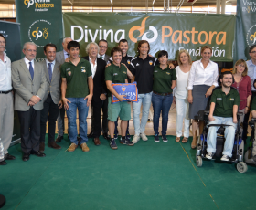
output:
[[[176,67],[176,89],[174,92],[174,102],[176,103],[176,142],[182,136],[184,119],[184,136],[181,142],[185,143],[189,137],[190,120],[188,119],[187,101],[187,80],[192,65],[192,60],[186,49],[181,49],[177,57],[178,66]]]

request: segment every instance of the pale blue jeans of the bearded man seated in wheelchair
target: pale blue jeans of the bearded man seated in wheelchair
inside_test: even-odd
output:
[[[209,124],[226,124],[230,125],[225,127],[225,143],[224,143],[224,150],[222,154],[226,154],[229,157],[232,157],[232,150],[234,146],[234,140],[235,140],[235,131],[237,128],[237,124],[233,122],[233,118],[222,118],[213,116],[215,119],[214,121],[210,121]],[[208,129],[208,152],[216,152],[216,138],[217,138],[217,131],[219,127],[212,126]]]

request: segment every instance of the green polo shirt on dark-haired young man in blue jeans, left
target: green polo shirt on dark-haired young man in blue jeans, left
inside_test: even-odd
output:
[[[67,79],[66,98],[84,98],[89,95],[88,77],[91,76],[90,63],[80,58],[75,66],[72,62],[61,65],[61,78]]]

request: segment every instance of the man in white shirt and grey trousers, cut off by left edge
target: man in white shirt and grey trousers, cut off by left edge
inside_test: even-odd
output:
[[[11,79],[11,60],[5,54],[5,37],[0,34],[0,142],[4,146],[4,161],[0,165],[7,164],[5,160],[14,160],[15,156],[8,153],[12,141],[14,128],[14,103]]]

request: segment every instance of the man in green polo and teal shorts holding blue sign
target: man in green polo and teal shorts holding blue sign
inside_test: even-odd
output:
[[[133,146],[133,142],[125,138],[125,132],[127,128],[127,121],[131,119],[131,105],[125,100],[124,95],[119,95],[112,87],[112,83],[128,83],[127,81],[127,68],[121,65],[122,50],[119,47],[113,47],[111,51],[112,64],[105,70],[105,80],[108,91],[108,120],[109,120],[109,132],[111,135],[110,146],[113,150],[117,149],[117,145],[114,141],[114,122],[119,117],[121,121],[121,134],[122,139],[120,143],[128,146]],[[112,94],[120,101],[112,104]]]

